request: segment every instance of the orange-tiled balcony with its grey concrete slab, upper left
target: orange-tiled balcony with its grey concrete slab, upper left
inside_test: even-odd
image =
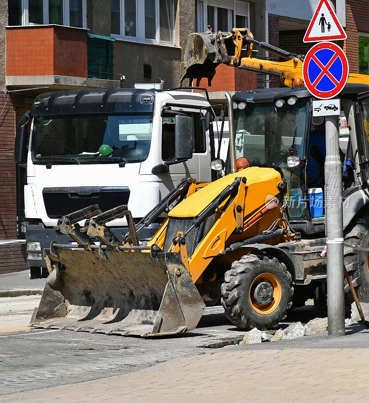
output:
[[[7,27],[8,90],[119,88],[120,81],[90,78],[87,29],[60,25]]]

